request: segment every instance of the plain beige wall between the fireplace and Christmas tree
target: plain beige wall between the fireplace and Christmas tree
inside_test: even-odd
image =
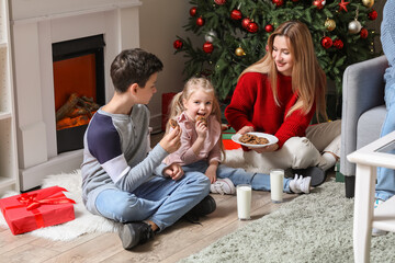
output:
[[[176,35],[195,39],[193,33],[184,31],[192,7],[187,0],[142,0],[139,11],[140,47],[157,55],[163,62],[163,71],[158,77],[158,92],[149,103],[150,126],[154,132],[160,129],[161,94],[179,92],[183,87],[183,54],[174,55]],[[202,36],[204,37],[204,36]]]

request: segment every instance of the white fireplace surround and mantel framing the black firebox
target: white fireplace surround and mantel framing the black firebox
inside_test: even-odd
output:
[[[104,35],[105,100],[109,69],[123,49],[139,46],[137,0],[11,0],[18,156],[21,190],[48,174],[70,172],[82,150],[57,153],[52,44]],[[59,11],[61,10],[61,11]]]

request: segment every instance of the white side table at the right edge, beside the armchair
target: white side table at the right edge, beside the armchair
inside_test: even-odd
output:
[[[353,219],[354,262],[369,262],[372,227],[395,232],[395,196],[374,207],[376,168],[395,169],[395,132],[350,153],[357,164]]]

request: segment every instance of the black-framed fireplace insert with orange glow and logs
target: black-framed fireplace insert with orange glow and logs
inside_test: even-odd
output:
[[[105,104],[104,37],[54,43],[54,94],[57,152],[83,148],[83,134]]]

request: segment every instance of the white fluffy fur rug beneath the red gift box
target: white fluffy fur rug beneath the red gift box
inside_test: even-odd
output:
[[[241,156],[241,149],[226,151],[226,163],[233,167],[242,167]],[[92,215],[84,208],[81,199],[80,170],[76,170],[74,173],[49,175],[44,179],[42,187],[55,185],[65,187],[68,191],[65,192],[65,195],[77,203],[75,205],[76,219],[61,225],[41,228],[29,235],[52,240],[68,241],[84,233],[116,231],[116,224],[103,217]],[[8,197],[15,194],[18,193],[7,193],[1,197]],[[8,227],[4,217],[1,213],[0,215],[0,226]]]

